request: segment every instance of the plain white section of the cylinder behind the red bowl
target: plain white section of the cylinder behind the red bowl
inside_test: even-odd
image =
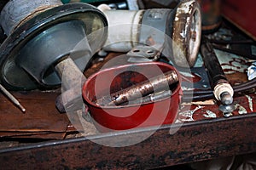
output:
[[[125,53],[136,47],[144,10],[113,10],[107,5],[98,8],[108,20],[108,39],[102,49]]]

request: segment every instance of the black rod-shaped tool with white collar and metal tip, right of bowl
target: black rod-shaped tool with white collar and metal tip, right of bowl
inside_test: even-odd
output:
[[[212,48],[212,44],[207,41],[206,37],[202,38],[201,54],[207,68],[207,73],[216,99],[223,105],[231,105],[233,103],[234,90],[224,75],[218,58]]]

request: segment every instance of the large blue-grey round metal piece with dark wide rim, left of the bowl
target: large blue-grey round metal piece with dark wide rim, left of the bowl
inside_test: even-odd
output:
[[[0,47],[0,80],[7,88],[31,90],[59,86],[63,63],[83,71],[107,39],[108,21],[86,3],[10,0],[1,25],[8,37]]]

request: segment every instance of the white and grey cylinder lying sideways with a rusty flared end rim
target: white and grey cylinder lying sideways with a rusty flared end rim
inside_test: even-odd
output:
[[[195,0],[185,0],[176,8],[111,10],[98,8],[108,19],[108,39],[103,50],[129,52],[140,45],[170,54],[182,67],[195,65],[201,42],[201,8]]]

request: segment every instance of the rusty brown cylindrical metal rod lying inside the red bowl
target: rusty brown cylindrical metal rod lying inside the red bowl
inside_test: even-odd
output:
[[[96,100],[96,105],[120,105],[154,92],[160,92],[166,88],[166,85],[170,86],[176,82],[178,82],[176,71],[167,71],[160,76],[150,78],[149,80],[135,84],[130,88],[125,88],[119,92],[110,94],[112,101],[109,103],[104,102],[109,96],[103,96],[101,99]]]

